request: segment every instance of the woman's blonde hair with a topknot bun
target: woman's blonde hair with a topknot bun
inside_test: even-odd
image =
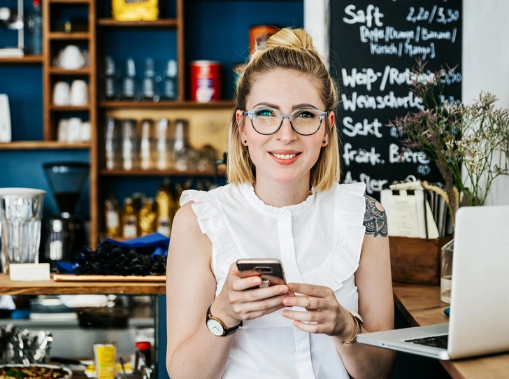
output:
[[[248,148],[241,143],[241,127],[236,111],[245,110],[252,85],[258,76],[274,69],[291,69],[304,73],[316,83],[326,110],[338,105],[336,83],[327,71],[322,57],[313,46],[313,39],[303,29],[281,29],[268,38],[264,48],[254,50],[245,72],[238,80],[234,111],[229,121],[227,178],[229,183],[254,184],[255,167]],[[243,117],[245,120],[245,117]],[[317,162],[310,171],[310,185],[315,191],[330,190],[340,180],[339,143],[336,125],[324,119],[329,143],[322,147]]]

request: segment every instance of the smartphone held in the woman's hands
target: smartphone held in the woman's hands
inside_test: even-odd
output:
[[[286,284],[285,271],[282,270],[279,259],[238,259],[237,269],[241,278],[248,278],[248,276],[261,277],[260,287]]]

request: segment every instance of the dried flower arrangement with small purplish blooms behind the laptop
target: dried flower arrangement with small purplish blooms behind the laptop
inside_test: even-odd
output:
[[[482,206],[495,178],[509,174],[509,110],[495,108],[498,99],[489,92],[472,104],[446,99],[443,90],[455,68],[424,73],[425,65],[417,62],[410,84],[422,108],[388,126],[406,135],[403,150],[420,150],[436,162],[454,222],[460,199],[465,206]]]

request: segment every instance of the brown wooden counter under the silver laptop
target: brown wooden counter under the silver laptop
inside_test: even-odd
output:
[[[440,301],[440,287],[392,283],[394,303],[412,327],[443,324],[449,317],[443,310],[449,306]],[[440,361],[454,379],[509,378],[509,353],[474,359]]]

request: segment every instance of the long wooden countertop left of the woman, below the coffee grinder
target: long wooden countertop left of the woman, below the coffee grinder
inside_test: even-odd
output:
[[[165,283],[140,282],[12,282],[0,274],[0,295],[57,294],[164,294]]]

